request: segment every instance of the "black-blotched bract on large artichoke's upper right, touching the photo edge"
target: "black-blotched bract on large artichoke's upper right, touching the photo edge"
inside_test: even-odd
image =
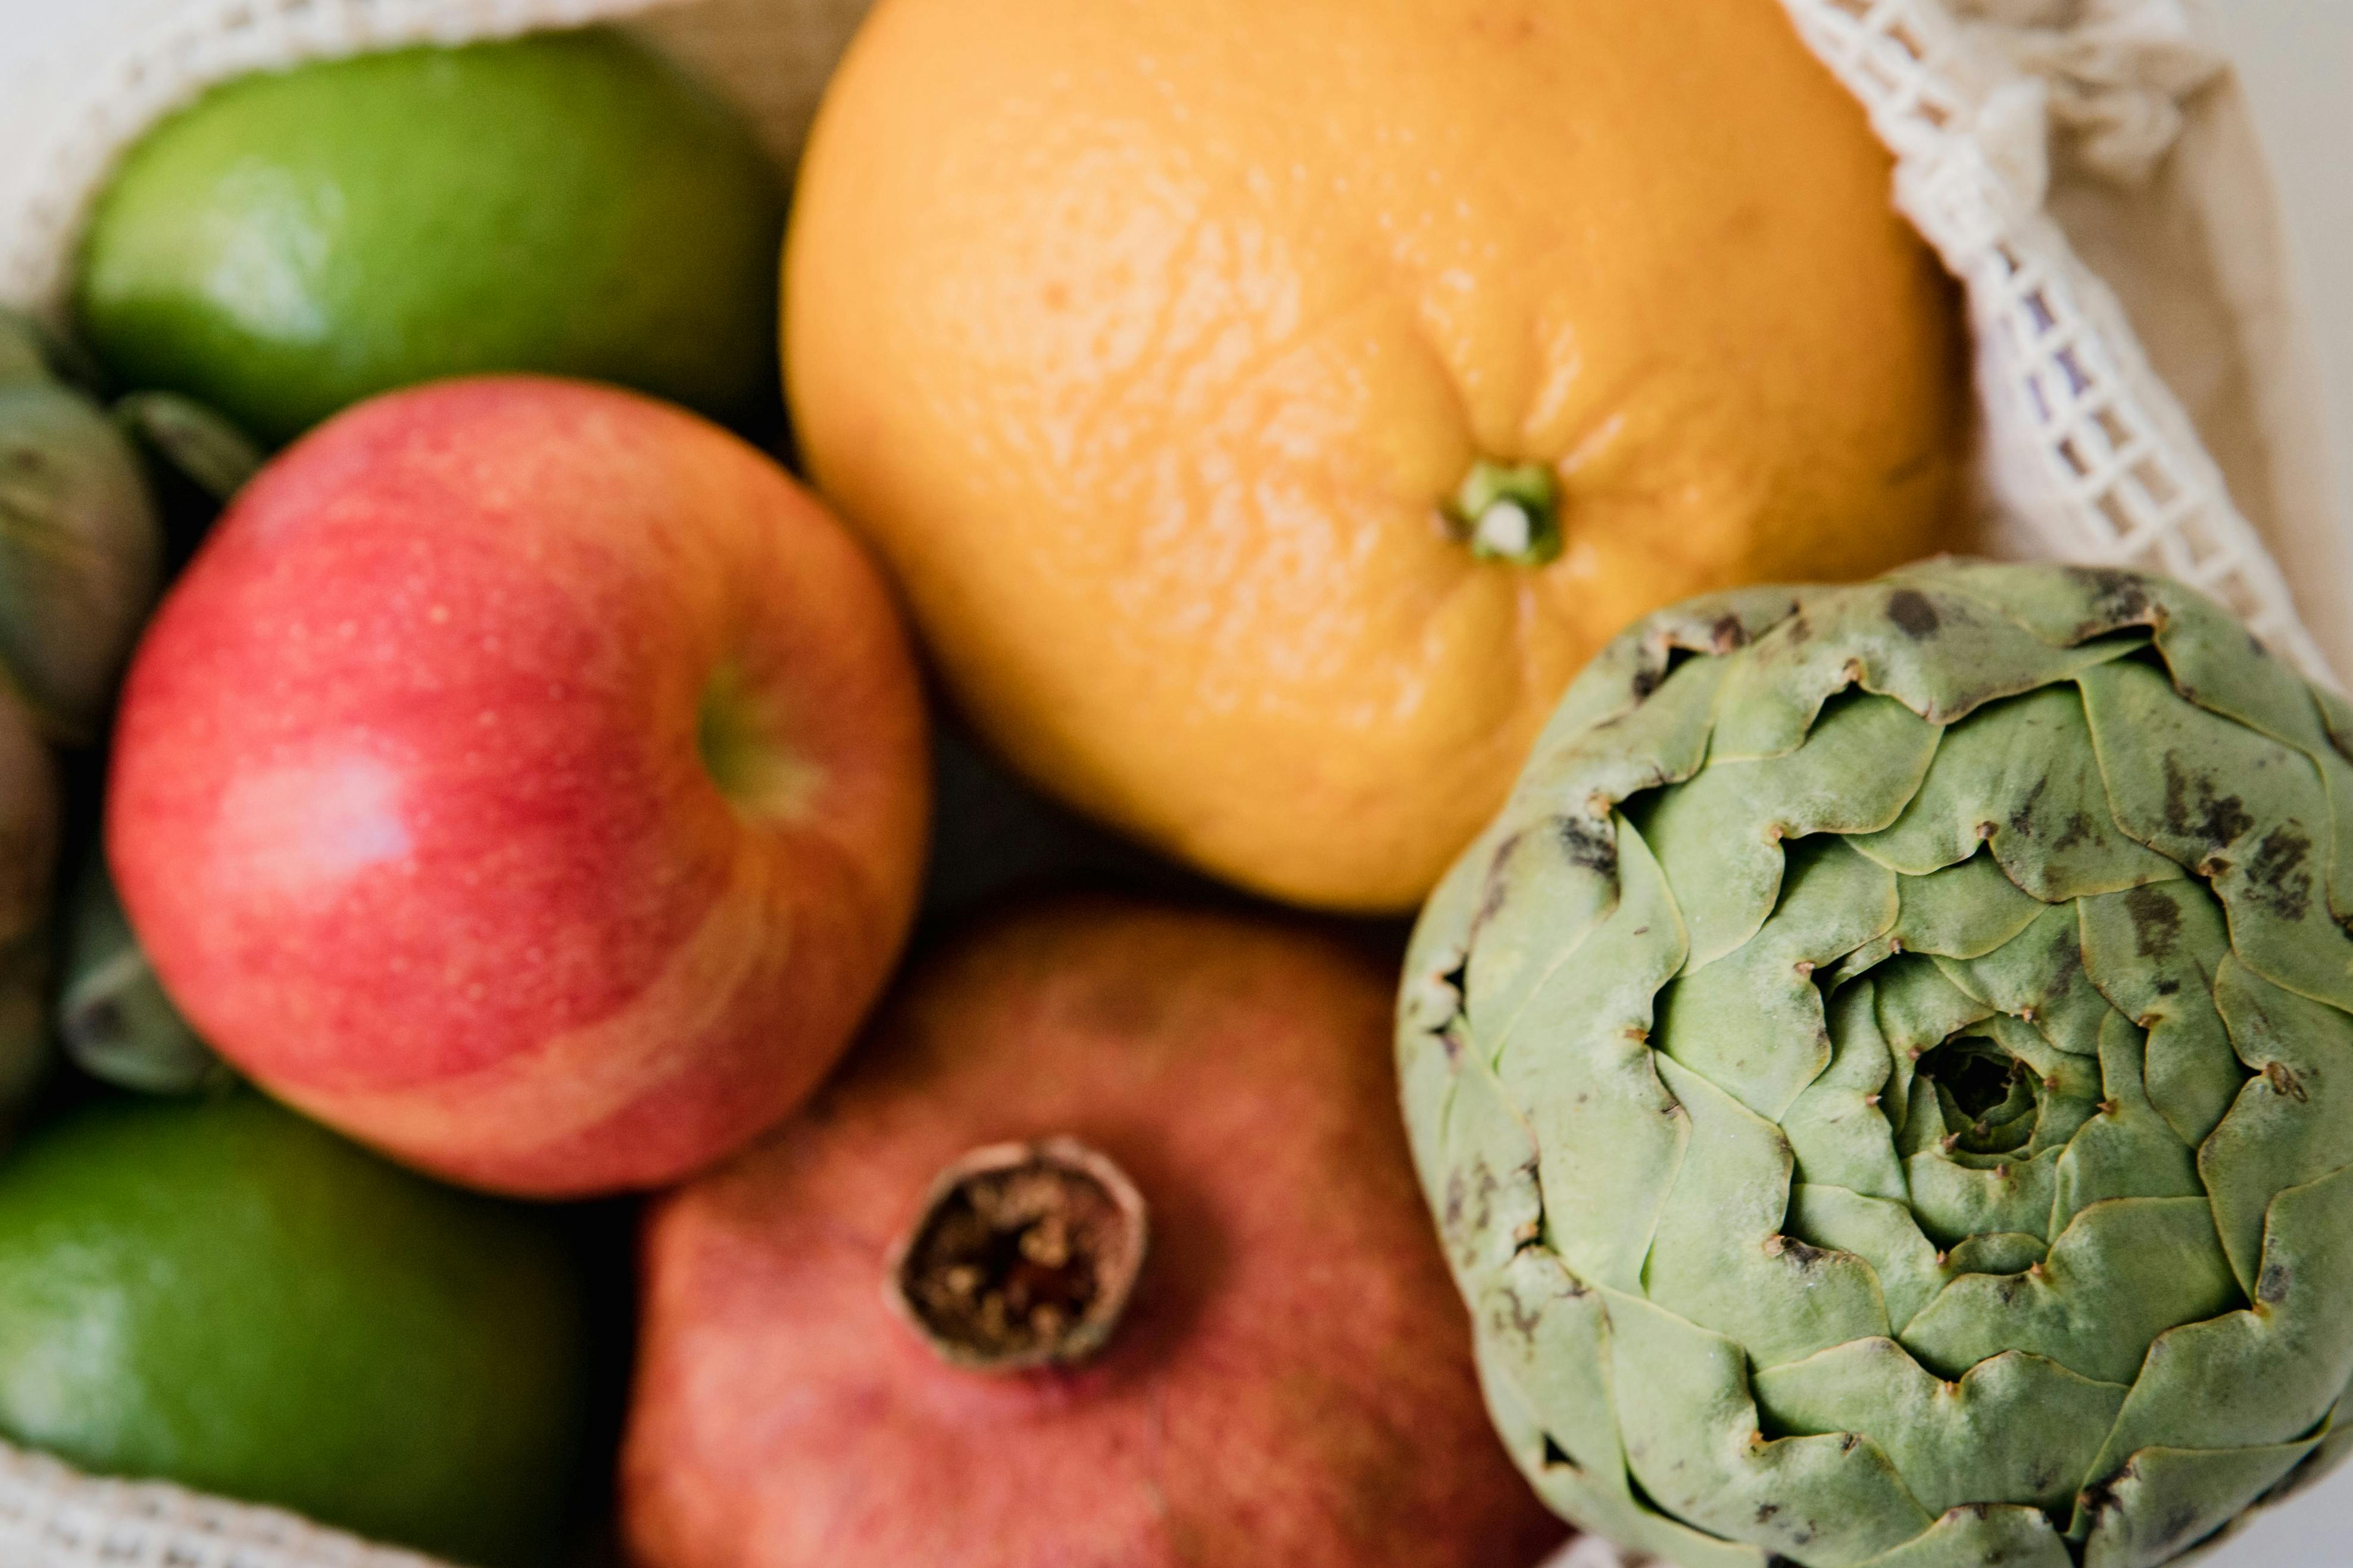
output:
[[[2094,671],[2082,690],[2125,831],[2209,878],[2252,970],[2353,1010],[2353,935],[2325,890],[2334,812],[2313,758],[2181,702],[2139,664]]]

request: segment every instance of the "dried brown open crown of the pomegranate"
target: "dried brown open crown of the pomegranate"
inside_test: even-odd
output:
[[[974,1149],[892,1248],[889,1302],[948,1366],[1073,1366],[1111,1342],[1144,1269],[1144,1196],[1073,1137]]]

